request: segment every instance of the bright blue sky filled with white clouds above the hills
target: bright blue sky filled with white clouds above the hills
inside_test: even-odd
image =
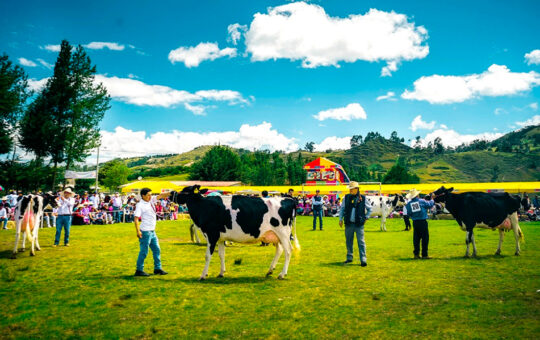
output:
[[[54,45],[87,46],[112,96],[106,157],[325,150],[393,130],[455,145],[540,123],[538,1],[3,1],[0,12],[0,50],[36,88]]]

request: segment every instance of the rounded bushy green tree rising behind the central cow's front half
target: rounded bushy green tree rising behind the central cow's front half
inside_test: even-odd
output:
[[[191,166],[190,179],[201,181],[237,181],[241,178],[238,155],[227,146],[214,146]]]

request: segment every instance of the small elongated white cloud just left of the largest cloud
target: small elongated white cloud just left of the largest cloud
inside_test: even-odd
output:
[[[205,60],[215,60],[222,57],[235,57],[236,48],[219,49],[216,43],[200,43],[195,47],[179,47],[169,52],[171,63],[182,62],[186,67],[197,67]]]

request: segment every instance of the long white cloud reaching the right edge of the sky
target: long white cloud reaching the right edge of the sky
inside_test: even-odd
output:
[[[540,84],[540,74],[511,72],[504,65],[491,65],[487,71],[468,76],[433,75],[414,82],[404,99],[425,100],[431,104],[460,103],[481,96],[498,97],[531,90]]]

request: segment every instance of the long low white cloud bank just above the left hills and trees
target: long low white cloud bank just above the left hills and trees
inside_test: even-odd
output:
[[[272,128],[272,124],[262,122],[259,125],[243,124],[236,131],[224,132],[156,132],[133,131],[121,126],[114,131],[102,131],[101,142],[105,147],[100,150],[100,159],[132,157],[148,154],[182,153],[201,145],[228,145],[244,149],[269,149],[296,151],[298,145],[293,138],[287,138]]]

